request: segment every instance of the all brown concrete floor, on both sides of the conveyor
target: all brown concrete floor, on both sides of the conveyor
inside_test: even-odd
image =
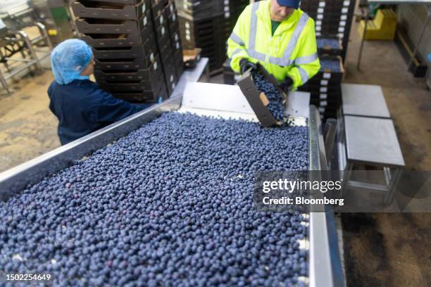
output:
[[[406,71],[392,42],[367,42],[362,71],[356,70],[358,46],[354,27],[345,82],[382,86],[406,167],[431,170],[431,93],[425,80]],[[52,79],[45,72],[13,84],[11,96],[0,94],[0,172],[60,146],[46,95]],[[342,224],[348,286],[430,286],[431,215],[342,215]]]

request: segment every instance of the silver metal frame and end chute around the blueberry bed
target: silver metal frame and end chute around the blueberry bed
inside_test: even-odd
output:
[[[201,115],[208,115],[208,113],[227,117],[237,115],[242,118],[249,117],[249,120],[253,119],[254,115],[251,108],[244,104],[245,100],[242,94],[232,92],[225,94],[225,97],[207,97],[206,101],[199,102],[197,100],[201,100],[201,97],[206,93],[196,91],[196,89],[196,86],[192,91],[186,89],[184,98],[182,96],[170,98],[164,103],[127,117],[125,120],[89,134],[71,144],[1,173],[0,199],[7,200],[14,193],[22,191],[28,184],[35,184],[48,174],[68,167],[74,161],[90,155],[97,149],[129,134],[167,111],[195,111]],[[229,97],[227,98],[226,95]],[[194,102],[206,103],[207,106],[196,106]],[[232,107],[237,108],[232,109]],[[299,122],[308,125],[310,170],[325,170],[325,148],[318,110],[311,106],[308,120],[302,119]],[[333,214],[330,212],[311,213],[308,234],[308,285],[344,286]]]

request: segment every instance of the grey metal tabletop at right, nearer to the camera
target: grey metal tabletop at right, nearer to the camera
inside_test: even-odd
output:
[[[347,158],[351,162],[384,167],[404,167],[392,120],[344,116]]]

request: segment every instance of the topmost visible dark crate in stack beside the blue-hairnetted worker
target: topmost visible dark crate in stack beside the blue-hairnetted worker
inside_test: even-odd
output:
[[[74,1],[70,6],[77,18],[137,20],[149,11],[148,1],[132,5],[109,4],[96,1]]]

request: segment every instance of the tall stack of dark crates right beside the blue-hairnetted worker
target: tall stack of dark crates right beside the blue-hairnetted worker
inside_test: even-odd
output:
[[[71,7],[101,89],[131,102],[168,98],[149,0],[75,0]]]

